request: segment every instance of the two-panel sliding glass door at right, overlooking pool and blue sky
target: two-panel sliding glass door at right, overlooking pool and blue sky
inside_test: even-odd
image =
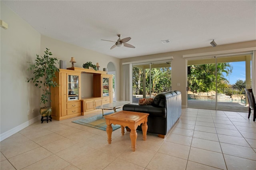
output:
[[[248,111],[251,55],[188,60],[188,107]]]

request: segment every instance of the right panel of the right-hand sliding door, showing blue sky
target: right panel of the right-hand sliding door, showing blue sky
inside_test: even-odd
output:
[[[223,75],[218,77],[217,110],[248,111],[244,89],[251,84],[250,60],[251,55],[217,57]]]

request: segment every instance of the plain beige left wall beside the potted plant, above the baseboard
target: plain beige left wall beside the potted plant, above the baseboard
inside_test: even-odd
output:
[[[27,71],[27,61],[32,62],[36,53],[40,53],[40,34],[2,2],[1,20],[8,24],[7,30],[0,28],[2,140],[8,136],[8,130],[19,126],[24,128],[28,121],[39,115],[39,91],[26,81],[31,76]],[[34,113],[32,108],[36,109]]]

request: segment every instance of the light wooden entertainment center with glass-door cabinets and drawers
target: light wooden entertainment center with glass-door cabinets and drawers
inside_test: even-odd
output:
[[[93,75],[93,88],[91,97],[82,98],[81,74]],[[95,110],[95,107],[113,102],[113,76],[106,71],[95,71],[71,67],[59,69],[56,72],[56,81],[59,87],[51,89],[52,119],[61,121],[80,115],[87,115]]]

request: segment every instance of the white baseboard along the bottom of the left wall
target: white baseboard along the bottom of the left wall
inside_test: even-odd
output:
[[[11,130],[8,130],[7,132],[0,134],[0,141],[12,136],[13,134],[19,132],[20,130],[24,129],[25,127],[28,127],[29,125],[35,123],[40,119],[41,119],[41,115],[38,115],[37,117],[30,119],[29,121],[26,121],[25,123],[22,123],[21,125],[15,128],[12,128]]]

